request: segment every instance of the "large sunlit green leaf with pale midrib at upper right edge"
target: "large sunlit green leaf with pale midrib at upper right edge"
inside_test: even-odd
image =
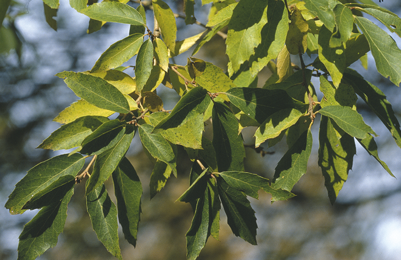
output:
[[[363,17],[354,17],[355,23],[366,36],[377,71],[383,77],[390,77],[395,85],[401,82],[401,50],[394,39],[377,25]]]

